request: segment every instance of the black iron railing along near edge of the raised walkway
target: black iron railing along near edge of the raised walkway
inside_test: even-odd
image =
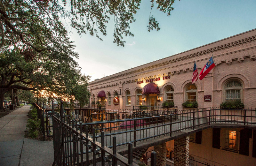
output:
[[[132,112],[131,112],[132,113]],[[210,124],[239,124],[256,126],[256,109],[218,109],[203,108],[177,111],[177,114],[160,115],[153,117],[136,117],[126,119],[105,120],[84,123],[96,131],[96,140],[100,139],[100,132],[106,133],[106,146],[112,147],[111,137],[116,136],[117,146],[132,142],[136,143],[163,136],[172,136],[173,133],[196,129]],[[174,118],[175,117],[175,118]]]

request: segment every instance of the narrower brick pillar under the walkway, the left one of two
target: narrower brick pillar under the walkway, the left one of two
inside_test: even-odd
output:
[[[156,166],[166,165],[166,142],[155,145],[154,151],[156,152]]]

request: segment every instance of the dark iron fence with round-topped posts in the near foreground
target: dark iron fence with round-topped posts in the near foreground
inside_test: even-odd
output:
[[[100,132],[100,142],[96,141],[95,129],[92,129],[92,137],[89,136],[88,125],[80,124],[78,130],[77,121],[72,121],[63,113],[64,109],[60,108],[60,113],[53,111],[53,146],[54,162],[53,165],[96,165],[101,162],[104,166],[108,163],[110,166],[123,164],[126,166],[136,166],[132,162],[132,143],[128,144],[128,159],[116,152],[116,137],[112,137],[112,149],[106,147],[105,132]],[[74,127],[75,126],[75,127]],[[153,163],[156,166],[156,153],[152,153]]]

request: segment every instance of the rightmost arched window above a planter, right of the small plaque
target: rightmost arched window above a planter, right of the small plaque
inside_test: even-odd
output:
[[[225,85],[225,99],[227,100],[240,100],[241,101],[241,93],[242,93],[242,84],[239,81],[233,80],[229,81]]]

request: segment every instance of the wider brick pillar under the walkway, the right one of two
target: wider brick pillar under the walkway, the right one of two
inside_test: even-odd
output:
[[[189,136],[174,140],[174,166],[189,166]]]

